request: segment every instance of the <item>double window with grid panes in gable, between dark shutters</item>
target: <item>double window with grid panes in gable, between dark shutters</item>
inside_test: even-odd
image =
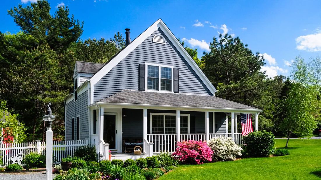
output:
[[[173,66],[146,63],[147,90],[173,92]]]

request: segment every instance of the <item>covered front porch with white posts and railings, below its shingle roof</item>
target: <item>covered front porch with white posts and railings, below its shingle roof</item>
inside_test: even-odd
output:
[[[91,143],[101,160],[108,159],[109,150],[113,159],[138,159],[174,152],[181,141],[224,136],[240,144],[240,113],[252,113],[258,129],[258,112],[224,111],[101,104],[90,108]],[[142,147],[142,155],[134,155],[135,146]]]

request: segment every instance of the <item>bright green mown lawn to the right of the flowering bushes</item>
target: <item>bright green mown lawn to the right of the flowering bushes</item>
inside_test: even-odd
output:
[[[285,139],[277,139],[283,148]],[[270,158],[245,158],[203,165],[179,165],[159,180],[166,179],[320,179],[321,140],[291,139],[290,155]]]

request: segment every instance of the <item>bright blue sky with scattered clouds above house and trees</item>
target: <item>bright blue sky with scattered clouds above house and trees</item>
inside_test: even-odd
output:
[[[0,6],[1,32],[20,29],[7,10],[37,0],[5,0]],[[321,0],[306,1],[113,1],[49,0],[54,13],[66,5],[75,19],[84,21],[82,39],[109,39],[131,28],[134,39],[161,18],[174,35],[199,56],[219,33],[240,37],[255,53],[265,55],[267,75],[290,75],[297,55],[306,60],[321,51]]]

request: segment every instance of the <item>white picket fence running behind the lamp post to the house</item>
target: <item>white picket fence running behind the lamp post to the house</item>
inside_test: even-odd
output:
[[[74,152],[80,147],[89,144],[89,138],[85,140],[54,141],[53,142],[53,161],[59,162],[66,157],[73,157]],[[28,143],[1,143],[0,144],[0,165],[12,163],[21,164],[23,158],[31,152],[46,154],[46,143],[36,140]],[[2,162],[2,163],[1,163]]]

